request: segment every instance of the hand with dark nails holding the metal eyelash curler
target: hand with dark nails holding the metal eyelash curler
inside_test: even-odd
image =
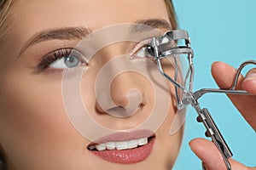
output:
[[[236,69],[222,62],[216,62],[212,65],[212,76],[220,88],[230,88],[234,80]],[[243,89],[250,94],[256,94],[256,70],[253,69],[247,73],[246,77],[239,77],[236,88]],[[256,130],[256,96],[255,95],[230,95],[230,100],[236,105],[238,111],[246,121]],[[223,157],[216,146],[207,139],[193,139],[189,143],[191,149],[195,152],[207,170],[226,169]],[[256,167],[246,167],[238,161],[230,158],[232,170],[255,170]]]

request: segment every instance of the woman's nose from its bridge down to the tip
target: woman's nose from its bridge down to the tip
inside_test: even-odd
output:
[[[102,95],[99,95],[100,101],[97,103],[104,111],[113,110],[113,108],[128,108],[136,110],[143,103],[143,91],[140,84],[137,83],[137,74],[131,71],[130,56],[124,54],[123,44],[114,44],[101,50],[102,68],[104,68],[104,80],[109,82],[110,87],[105,86]],[[107,68],[107,69],[105,69]],[[109,88],[109,89],[108,89]],[[108,94],[109,93],[109,94]],[[109,101],[109,97],[112,100]],[[99,101],[97,101],[99,102]],[[121,112],[121,111],[119,111]]]

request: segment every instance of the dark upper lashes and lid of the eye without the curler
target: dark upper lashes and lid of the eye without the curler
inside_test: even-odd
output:
[[[79,51],[77,51],[73,48],[61,48],[61,49],[57,49],[54,52],[47,54],[42,59],[40,59],[38,65],[37,65],[38,71],[39,72],[46,71],[47,69],[49,69],[49,65],[52,64],[53,62],[55,62],[57,59],[61,59],[62,57],[68,56],[72,53],[76,54],[78,59],[82,63],[87,65],[87,63],[83,59],[84,58],[83,54],[81,54]],[[61,69],[59,69],[59,70],[61,70]]]

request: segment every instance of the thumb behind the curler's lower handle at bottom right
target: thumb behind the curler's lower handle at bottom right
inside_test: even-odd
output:
[[[224,159],[218,148],[207,139],[193,139],[189,142],[191,150],[203,162],[207,170],[227,170]],[[238,161],[229,160],[232,170],[256,170],[255,167],[246,167]]]

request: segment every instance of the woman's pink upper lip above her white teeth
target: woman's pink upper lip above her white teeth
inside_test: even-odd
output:
[[[112,133],[107,136],[103,136],[99,139],[96,139],[93,144],[103,144],[111,141],[120,142],[120,141],[127,141],[132,139],[141,139],[141,138],[148,138],[154,136],[154,132],[151,130],[143,129],[143,130],[137,130],[132,132],[121,132],[121,133]]]

